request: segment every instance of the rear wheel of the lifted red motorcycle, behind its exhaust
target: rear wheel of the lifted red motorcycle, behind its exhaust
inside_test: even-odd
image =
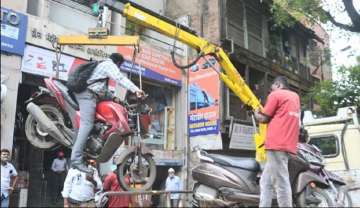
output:
[[[64,122],[62,113],[55,106],[44,104],[40,108],[52,121]],[[31,114],[25,121],[25,135],[30,144],[39,149],[50,149],[58,144],[47,132],[41,130],[40,125]]]

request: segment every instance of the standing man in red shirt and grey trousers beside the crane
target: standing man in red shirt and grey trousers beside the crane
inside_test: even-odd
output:
[[[292,207],[288,161],[296,154],[300,129],[300,98],[289,90],[286,77],[275,78],[263,111],[255,118],[268,123],[265,149],[266,164],[260,179],[260,207],[271,207],[273,186],[279,207]],[[274,184],[272,184],[272,182]]]

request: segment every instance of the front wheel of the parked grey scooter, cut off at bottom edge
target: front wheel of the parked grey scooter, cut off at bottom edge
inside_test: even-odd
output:
[[[297,199],[299,207],[335,207],[330,194],[318,187],[307,186]]]

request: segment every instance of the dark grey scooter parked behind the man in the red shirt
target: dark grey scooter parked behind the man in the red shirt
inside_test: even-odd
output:
[[[192,170],[196,181],[193,206],[258,206],[261,169],[255,159],[208,154],[202,150],[197,150],[197,154],[201,163]],[[299,152],[289,159],[294,206],[334,206],[334,200],[326,191],[330,187],[329,181],[314,171],[312,164],[304,159],[306,155],[302,154]],[[276,198],[273,199],[275,203]]]

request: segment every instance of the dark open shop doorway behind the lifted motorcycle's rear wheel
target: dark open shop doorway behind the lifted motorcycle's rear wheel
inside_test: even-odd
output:
[[[18,200],[24,201],[30,207],[49,207],[62,206],[62,204],[52,204],[51,196],[53,174],[51,165],[56,158],[56,153],[62,150],[65,157],[70,157],[71,150],[61,149],[55,146],[52,149],[42,150],[30,144],[25,135],[25,121],[28,116],[25,101],[38,90],[38,86],[43,85],[42,77],[24,74],[23,82],[19,85],[16,121],[14,131],[14,161],[19,172],[19,190],[26,194],[18,193]],[[22,197],[20,199],[20,197]],[[61,200],[62,203],[62,200]]]

